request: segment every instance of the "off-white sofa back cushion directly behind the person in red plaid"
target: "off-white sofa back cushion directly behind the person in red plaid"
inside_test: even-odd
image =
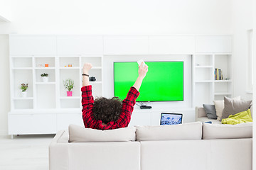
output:
[[[135,140],[136,128],[95,130],[79,125],[69,125],[69,142],[127,142]]]

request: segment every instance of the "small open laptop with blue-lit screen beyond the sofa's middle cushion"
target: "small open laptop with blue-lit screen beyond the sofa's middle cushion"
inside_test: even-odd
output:
[[[181,113],[161,113],[160,125],[178,125],[181,123]]]

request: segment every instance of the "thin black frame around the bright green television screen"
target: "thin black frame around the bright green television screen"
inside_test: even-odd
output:
[[[145,62],[147,62],[147,61],[145,61]],[[183,67],[183,84],[182,84],[183,94],[182,94],[182,99],[183,100],[181,100],[181,101],[184,101],[184,61],[157,61],[157,62],[182,62],[182,67]],[[113,80],[114,80],[114,63],[115,62],[113,62]],[[113,93],[114,93],[114,89],[113,89]],[[162,101],[137,101],[137,102],[162,102]]]

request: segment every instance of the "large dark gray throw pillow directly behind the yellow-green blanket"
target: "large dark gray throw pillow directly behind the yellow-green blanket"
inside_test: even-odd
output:
[[[223,118],[228,118],[229,115],[235,115],[242,111],[247,111],[251,106],[252,101],[238,101],[231,98],[224,97]]]

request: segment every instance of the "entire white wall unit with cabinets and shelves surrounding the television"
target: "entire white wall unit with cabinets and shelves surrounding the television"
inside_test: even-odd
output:
[[[113,56],[127,61],[140,55],[149,58],[157,55],[160,60],[170,55],[192,56],[192,67],[189,67],[192,68],[192,77],[189,77],[192,82],[189,84],[193,87],[185,89],[188,94],[186,108],[163,108],[164,111],[186,113],[186,122],[193,121],[194,106],[233,95],[231,35],[10,35],[9,42],[10,135],[49,134],[67,129],[71,123],[83,125],[82,64],[90,62],[93,65],[90,77],[95,77],[96,81],[90,82],[92,95],[95,98],[105,93],[110,96],[107,88],[111,88],[111,80],[104,79],[103,70],[111,74],[111,67],[105,68],[105,64]],[[69,64],[72,67],[68,67]],[[222,69],[223,77],[228,80],[215,81],[215,68]],[[43,73],[49,74],[47,83],[41,79]],[[66,95],[63,86],[63,80],[69,78],[75,82],[72,97]],[[26,98],[21,98],[22,83],[28,84]],[[182,102],[179,104],[182,106]],[[156,125],[159,111],[155,108],[148,114],[148,111],[134,109],[137,115],[133,115],[131,125]]]

